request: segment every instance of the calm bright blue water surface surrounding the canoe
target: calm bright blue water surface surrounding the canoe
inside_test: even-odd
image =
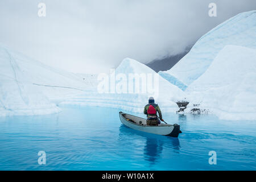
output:
[[[0,170],[256,169],[256,121],[163,114],[183,131],[171,138],[123,126],[118,109],[62,109],[59,114],[0,118]],[[46,152],[46,165],[38,164],[39,151]],[[209,151],[216,151],[216,165],[209,164]]]

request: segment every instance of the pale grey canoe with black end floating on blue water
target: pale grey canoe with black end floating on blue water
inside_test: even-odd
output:
[[[169,125],[160,123],[158,126],[148,126],[146,119],[123,112],[119,112],[119,118],[123,125],[134,130],[144,131],[157,135],[167,135],[170,137],[178,137],[181,133],[180,125],[177,124]]]

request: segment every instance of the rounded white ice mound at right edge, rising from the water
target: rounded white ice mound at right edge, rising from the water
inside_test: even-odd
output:
[[[220,119],[256,120],[256,49],[225,46],[186,93]]]

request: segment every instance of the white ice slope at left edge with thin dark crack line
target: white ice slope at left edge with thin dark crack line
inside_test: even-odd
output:
[[[90,88],[76,74],[48,67],[0,44],[0,116],[57,113],[59,102]]]

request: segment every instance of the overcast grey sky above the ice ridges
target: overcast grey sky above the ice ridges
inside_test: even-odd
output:
[[[38,4],[46,4],[46,17]],[[209,3],[217,17],[209,17]],[[255,0],[0,1],[0,42],[53,67],[100,73],[130,57],[148,63],[183,52]]]

